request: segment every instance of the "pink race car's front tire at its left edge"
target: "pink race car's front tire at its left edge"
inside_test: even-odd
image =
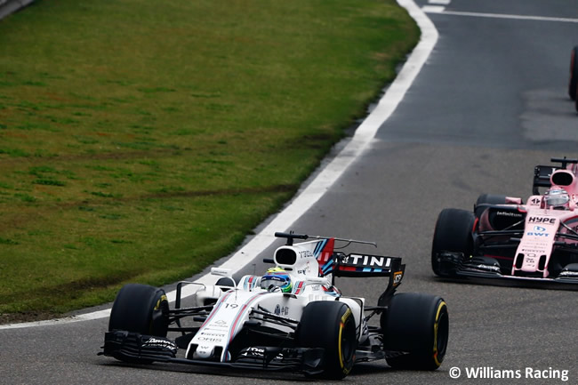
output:
[[[431,245],[431,269],[439,277],[453,277],[455,271],[442,265],[439,253],[462,253],[469,258],[473,241],[474,214],[460,209],[444,209],[438,215]]]

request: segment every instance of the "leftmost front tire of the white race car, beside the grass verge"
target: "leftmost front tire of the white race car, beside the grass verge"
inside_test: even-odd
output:
[[[108,331],[166,337],[168,311],[169,302],[163,289],[149,285],[124,285],[112,305]]]

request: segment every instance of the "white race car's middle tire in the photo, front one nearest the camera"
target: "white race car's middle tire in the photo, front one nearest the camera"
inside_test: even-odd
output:
[[[349,306],[340,301],[314,301],[303,309],[296,341],[303,348],[325,349],[322,373],[315,377],[341,380],[355,362],[357,333]]]

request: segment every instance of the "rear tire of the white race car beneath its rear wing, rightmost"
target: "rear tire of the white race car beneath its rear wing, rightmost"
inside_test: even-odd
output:
[[[386,360],[394,369],[436,370],[444,361],[449,316],[441,297],[395,294],[381,315],[381,329],[384,349],[389,352]]]

